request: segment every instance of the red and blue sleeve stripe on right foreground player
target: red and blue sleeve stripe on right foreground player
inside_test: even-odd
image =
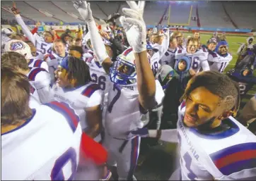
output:
[[[256,143],[249,142],[229,146],[210,154],[210,157],[223,175],[231,175],[241,170],[256,168]]]

